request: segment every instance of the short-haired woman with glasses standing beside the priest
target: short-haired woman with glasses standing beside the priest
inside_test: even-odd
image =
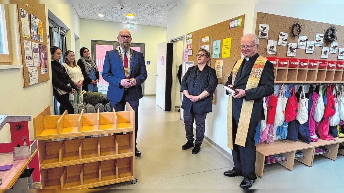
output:
[[[213,93],[217,86],[215,69],[208,66],[210,52],[201,48],[197,52],[198,65],[187,69],[181,81],[180,92],[184,93],[182,108],[184,109],[184,124],[187,142],[182,149],[192,149],[192,154],[201,150],[204,138],[205,117],[211,112]],[[196,119],[196,141],[193,145],[193,122]]]

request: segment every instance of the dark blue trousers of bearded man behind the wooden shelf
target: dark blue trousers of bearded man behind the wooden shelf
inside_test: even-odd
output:
[[[135,147],[136,147],[136,139],[137,139],[137,130],[138,130],[138,115],[139,115],[139,100],[133,101],[126,101],[125,100],[126,91],[123,94],[123,98],[119,102],[115,102],[110,100],[111,110],[115,108],[115,111],[124,111],[124,107],[126,106],[126,102],[129,103],[131,108],[135,111]]]

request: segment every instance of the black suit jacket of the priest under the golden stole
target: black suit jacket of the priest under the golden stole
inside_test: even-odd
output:
[[[258,53],[255,56],[252,56],[250,60],[256,61],[259,57]],[[245,59],[244,59],[245,61]],[[243,61],[243,62],[244,62]],[[236,63],[236,62],[235,62]],[[235,64],[234,64],[235,65]],[[252,63],[248,68],[252,69],[254,63]],[[239,72],[241,71],[241,68],[243,65],[240,66]],[[233,69],[232,69],[233,70]],[[233,88],[238,89],[244,89],[246,88],[246,84],[248,81],[248,78],[250,76],[251,70],[245,70],[242,69],[244,74],[241,74],[240,77],[236,77],[234,84],[232,84],[232,75],[228,77],[228,81],[226,82],[226,86],[232,84]],[[231,73],[232,74],[232,73]],[[264,109],[263,109],[263,100],[262,98],[272,95],[272,93],[275,91],[275,74],[273,73],[273,64],[268,60],[265,63],[264,70],[261,74],[258,86],[256,88],[251,88],[246,90],[246,96],[241,98],[233,98],[232,103],[232,114],[235,120],[239,120],[240,112],[241,112],[241,106],[243,105],[243,99],[245,100],[254,100],[252,114],[251,114],[251,121],[250,122],[259,122],[260,120],[264,120]],[[227,92],[227,91],[226,91]],[[227,95],[229,93],[227,92]]]

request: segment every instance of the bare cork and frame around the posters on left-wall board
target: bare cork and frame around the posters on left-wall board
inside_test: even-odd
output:
[[[29,15],[29,26],[30,26],[30,31],[31,31],[31,14],[36,16],[37,19],[42,21],[42,27],[43,27],[43,42],[32,39],[31,34],[30,38],[28,37],[23,37],[22,33],[22,20],[21,20],[21,13],[20,13],[20,8],[28,12]],[[47,44],[47,33],[46,33],[46,20],[45,20],[45,5],[40,5],[40,4],[28,4],[28,5],[18,5],[18,25],[19,25],[19,36],[20,36],[20,47],[21,47],[21,58],[22,58],[22,63],[23,63],[23,87],[28,87],[30,85],[30,79],[29,79],[29,67],[26,67],[26,62],[25,62],[25,52],[24,52],[24,40],[30,41],[31,44],[31,51],[32,51],[32,43],[37,43],[37,44],[42,44],[45,45],[46,47],[46,56],[47,53],[50,51],[50,47]],[[33,54],[33,53],[32,53]],[[37,66],[38,70],[38,83],[48,81],[50,79],[49,77],[49,65],[48,63],[50,62],[50,58],[46,59],[47,62],[47,68],[48,71],[46,74],[41,74],[41,67],[40,65]],[[36,83],[36,84],[38,84]],[[32,84],[34,85],[34,84]]]

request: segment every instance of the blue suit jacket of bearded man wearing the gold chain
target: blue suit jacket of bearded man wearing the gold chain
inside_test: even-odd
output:
[[[125,75],[123,62],[117,49],[107,51],[105,54],[103,78],[110,83],[107,98],[119,102],[124,92],[124,87],[120,85],[120,82],[122,79],[125,79]],[[129,79],[136,79],[137,84],[129,87],[129,93],[126,99],[132,101],[142,98],[141,84],[147,79],[147,70],[144,64],[143,54],[135,50],[133,50],[131,56]]]

